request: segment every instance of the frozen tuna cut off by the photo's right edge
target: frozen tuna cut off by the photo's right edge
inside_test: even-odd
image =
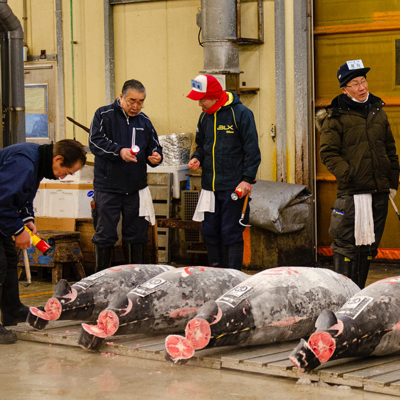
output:
[[[356,293],[339,310],[323,310],[308,342],[290,360],[310,371],[346,357],[383,356],[400,350],[400,276],[382,279]]]

